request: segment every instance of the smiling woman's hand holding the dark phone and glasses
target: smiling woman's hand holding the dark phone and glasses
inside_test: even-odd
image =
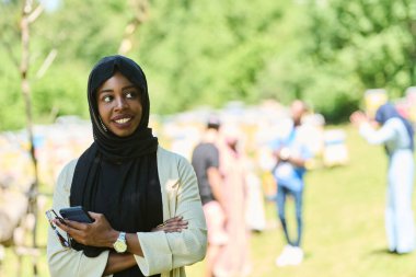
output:
[[[55,223],[66,231],[72,239],[84,245],[113,247],[118,238],[118,232],[108,223],[102,213],[89,211],[94,219],[92,223],[81,223],[65,219],[65,223],[56,220]]]

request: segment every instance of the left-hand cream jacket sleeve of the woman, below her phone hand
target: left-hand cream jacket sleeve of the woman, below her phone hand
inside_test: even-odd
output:
[[[53,203],[53,209],[56,212],[63,207],[69,207],[69,193],[76,164],[77,161],[70,162],[59,174]],[[67,238],[63,231],[60,233]],[[93,258],[86,257],[81,251],[62,247],[55,231],[48,227],[47,259],[53,277],[100,277],[107,264],[108,251]]]

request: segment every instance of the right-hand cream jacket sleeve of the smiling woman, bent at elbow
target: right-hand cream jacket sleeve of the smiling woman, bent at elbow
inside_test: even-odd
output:
[[[188,228],[174,233],[138,233],[145,256],[135,257],[146,276],[194,264],[201,261],[206,254],[207,228],[196,175],[184,158],[178,157],[176,164],[178,187],[176,193],[170,195],[169,198],[170,201],[176,201],[174,216],[182,216],[184,220],[187,220]],[[165,184],[161,185],[165,186]],[[172,199],[174,197],[176,199]]]

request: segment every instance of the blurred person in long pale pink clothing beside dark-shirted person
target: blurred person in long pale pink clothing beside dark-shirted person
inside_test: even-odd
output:
[[[234,124],[224,124],[221,126],[221,137],[220,172],[229,239],[220,250],[213,273],[216,277],[249,276],[250,230],[245,222],[247,158],[241,147],[243,134]]]

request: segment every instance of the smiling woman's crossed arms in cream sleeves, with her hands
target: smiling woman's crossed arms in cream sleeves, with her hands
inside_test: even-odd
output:
[[[185,164],[187,170],[181,176],[182,185],[180,193],[172,194],[175,198],[169,198],[169,205],[173,199],[180,199],[177,206],[171,206],[171,217],[182,216],[188,222],[180,218],[172,218],[165,224],[155,227],[153,232],[138,232],[127,234],[127,254],[118,254],[114,251],[104,251],[96,257],[86,257],[83,252],[65,249],[59,244],[54,231],[48,232],[47,257],[51,276],[83,276],[95,277],[102,274],[108,275],[139,265],[146,275],[164,273],[200,261],[206,250],[206,226],[201,210],[200,199],[195,185],[195,173],[190,165]],[[72,164],[74,168],[74,163]],[[182,164],[180,164],[182,168]],[[69,206],[69,191],[73,168],[69,165],[58,178],[54,194],[53,208],[59,210]],[[166,177],[163,177],[165,180]],[[165,184],[165,182],[162,182]],[[162,194],[163,195],[163,194]],[[173,197],[167,196],[166,197]],[[172,211],[173,210],[173,211]],[[118,231],[106,224],[104,216],[93,213],[95,218],[92,224],[67,222],[61,227],[74,240],[86,245],[113,245],[118,236]],[[182,223],[178,223],[182,222]],[[182,228],[182,229],[181,229]],[[83,229],[89,229],[88,231]],[[181,229],[181,232],[174,231]],[[158,232],[159,231],[159,232]],[[163,232],[160,232],[163,231]],[[95,233],[94,235],[92,235]],[[100,233],[100,234],[99,234]],[[91,239],[91,236],[95,236]],[[90,238],[90,239],[89,239]],[[136,259],[136,261],[135,261]]]

